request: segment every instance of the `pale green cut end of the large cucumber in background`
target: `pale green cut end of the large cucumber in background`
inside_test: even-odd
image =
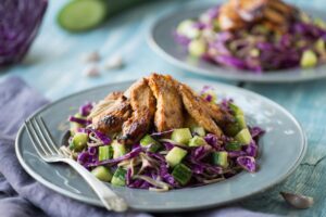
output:
[[[106,17],[104,0],[75,0],[67,3],[58,15],[58,23],[70,31],[84,31],[97,27]]]

